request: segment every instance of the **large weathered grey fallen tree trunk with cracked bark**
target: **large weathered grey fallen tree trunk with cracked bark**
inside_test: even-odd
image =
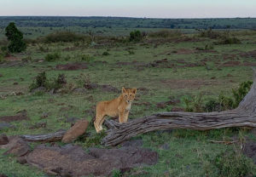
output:
[[[209,130],[230,127],[256,127],[256,77],[250,91],[241,100],[239,106],[230,111],[220,112],[160,112],[152,116],[137,118],[128,123],[107,121],[107,136],[102,140],[105,146],[116,146],[129,140],[137,134],[143,134],[158,129],[188,128]]]

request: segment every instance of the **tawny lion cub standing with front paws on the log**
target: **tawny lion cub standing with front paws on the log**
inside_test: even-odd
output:
[[[122,94],[118,98],[97,103],[94,122],[97,133],[102,131],[102,123],[106,116],[119,116],[119,123],[127,122],[129,111],[131,110],[131,102],[134,100],[136,92],[137,88],[122,88]]]

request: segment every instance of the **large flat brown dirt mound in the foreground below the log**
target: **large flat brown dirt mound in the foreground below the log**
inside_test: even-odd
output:
[[[27,157],[27,163],[47,169],[49,174],[106,176],[113,169],[131,169],[157,162],[157,152],[138,147],[120,149],[90,149],[87,154],[80,146],[37,146]]]

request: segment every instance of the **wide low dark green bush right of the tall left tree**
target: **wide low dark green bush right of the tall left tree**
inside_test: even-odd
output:
[[[71,31],[56,31],[43,38],[44,43],[69,43],[89,40],[89,37]]]

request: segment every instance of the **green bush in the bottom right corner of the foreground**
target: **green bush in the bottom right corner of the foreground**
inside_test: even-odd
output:
[[[241,151],[225,151],[214,159],[221,177],[253,176],[253,162],[244,157]]]

